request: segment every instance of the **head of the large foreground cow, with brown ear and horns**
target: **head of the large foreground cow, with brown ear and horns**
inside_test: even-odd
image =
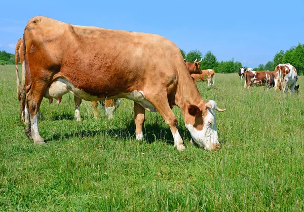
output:
[[[216,102],[201,101],[198,105],[189,105],[185,114],[185,125],[193,140],[205,150],[218,150],[219,142],[216,130],[215,110],[224,112]]]

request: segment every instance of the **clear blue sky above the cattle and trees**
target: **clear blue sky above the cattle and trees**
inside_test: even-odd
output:
[[[76,25],[160,34],[188,52],[211,51],[248,67],[304,44],[304,1],[5,1],[0,50],[14,53],[27,21],[44,15]]]

